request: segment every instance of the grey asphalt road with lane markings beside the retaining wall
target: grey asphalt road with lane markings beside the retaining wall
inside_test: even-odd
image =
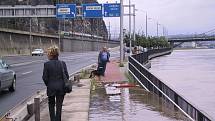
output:
[[[83,67],[97,62],[98,52],[62,53],[59,57],[67,64],[68,72],[74,73]],[[119,52],[111,52],[111,57],[119,57]],[[17,74],[16,91],[10,93],[5,90],[0,92],[0,117],[24,99],[35,94],[38,90],[45,89],[42,80],[43,63],[46,56],[11,56],[4,60]]]

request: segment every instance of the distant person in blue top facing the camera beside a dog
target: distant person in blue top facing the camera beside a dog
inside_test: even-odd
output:
[[[101,70],[101,75],[105,75],[106,65],[107,62],[110,62],[110,53],[107,50],[107,47],[103,47],[102,50],[99,52],[98,56],[98,69]]]

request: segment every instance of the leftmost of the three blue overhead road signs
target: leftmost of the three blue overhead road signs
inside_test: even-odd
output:
[[[75,18],[76,4],[57,4],[56,5],[57,18]]]

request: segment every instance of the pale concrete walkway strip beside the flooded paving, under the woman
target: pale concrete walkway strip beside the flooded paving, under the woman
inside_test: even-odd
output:
[[[74,86],[73,91],[66,94],[63,102],[62,121],[88,121],[90,104],[90,79],[80,80],[81,87]],[[48,104],[40,113],[41,121],[50,121]],[[34,121],[32,117],[29,121]]]

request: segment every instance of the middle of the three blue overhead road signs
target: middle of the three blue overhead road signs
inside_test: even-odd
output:
[[[82,4],[84,18],[102,18],[102,4]]]

